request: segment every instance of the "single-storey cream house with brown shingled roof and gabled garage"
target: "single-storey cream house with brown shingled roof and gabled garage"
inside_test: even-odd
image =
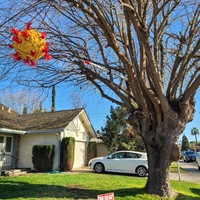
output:
[[[84,109],[19,115],[0,104],[0,169],[2,166],[34,169],[33,146],[53,144],[53,169],[59,170],[64,137],[75,138],[73,168],[87,165],[87,146],[96,134]]]

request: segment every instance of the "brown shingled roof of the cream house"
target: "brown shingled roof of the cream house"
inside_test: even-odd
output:
[[[7,108],[7,107],[6,107]],[[0,110],[0,128],[15,130],[52,130],[65,128],[83,109],[20,115],[8,109]]]

